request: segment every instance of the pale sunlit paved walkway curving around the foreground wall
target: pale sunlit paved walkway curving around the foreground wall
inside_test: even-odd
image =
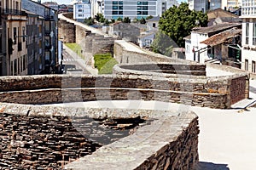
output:
[[[256,80],[250,82],[256,89]],[[254,90],[254,89],[253,89]],[[256,99],[255,91],[250,95]],[[107,107],[195,111],[199,116],[200,170],[253,170],[256,167],[256,108],[210,109],[158,101],[90,101],[58,104],[72,107]]]

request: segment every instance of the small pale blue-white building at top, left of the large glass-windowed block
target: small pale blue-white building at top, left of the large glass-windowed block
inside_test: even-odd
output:
[[[91,14],[90,0],[82,0],[79,3],[73,4],[73,19],[79,22],[83,22],[84,19],[93,17]]]

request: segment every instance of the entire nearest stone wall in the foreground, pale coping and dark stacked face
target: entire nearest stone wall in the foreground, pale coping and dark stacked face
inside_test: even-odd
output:
[[[1,151],[0,167],[195,169],[199,161],[198,117],[191,111],[177,113],[2,103],[0,108],[0,116],[3,116],[0,120],[3,125],[1,146],[6,147]],[[146,122],[141,122],[142,119]],[[129,123],[125,125],[125,122]],[[106,132],[99,132],[101,128],[96,126],[102,124],[119,130],[112,132],[113,137],[106,136],[113,139],[111,144],[100,147],[101,144],[91,143],[87,136],[102,141],[101,137],[109,131],[106,128]],[[139,127],[133,128],[131,124]],[[122,139],[114,137],[125,129],[130,129],[131,135]],[[94,133],[88,133],[90,131]],[[20,159],[15,161],[15,156]]]

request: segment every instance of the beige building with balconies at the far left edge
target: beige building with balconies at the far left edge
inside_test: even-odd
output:
[[[1,7],[1,75],[26,75],[26,13],[21,11],[20,0],[3,0]]]

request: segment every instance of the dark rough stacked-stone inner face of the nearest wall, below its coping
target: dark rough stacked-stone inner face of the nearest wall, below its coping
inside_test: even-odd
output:
[[[140,117],[110,121],[87,116],[71,119],[68,116],[0,113],[3,125],[0,129],[0,168],[62,169],[68,162],[90,155],[102,144],[124,138],[140,123],[144,126],[150,122],[145,123]],[[113,133],[111,129],[117,130]]]

